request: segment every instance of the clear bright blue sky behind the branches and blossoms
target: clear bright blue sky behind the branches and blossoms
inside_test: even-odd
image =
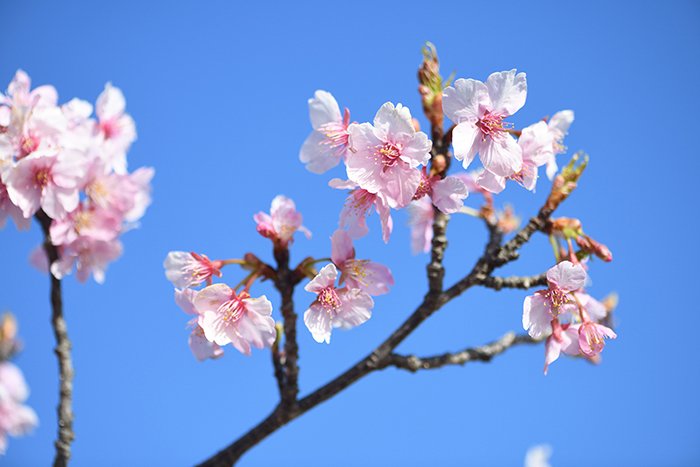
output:
[[[61,101],[91,101],[107,81],[123,89],[139,139],[130,167],[154,166],[154,202],[103,286],[65,283],[73,340],[75,466],[191,465],[228,444],[276,403],[269,352],[226,349],[198,363],[187,316],[172,300],[162,261],[169,250],[211,257],[252,251],[271,260],[252,215],[279,193],[292,197],[314,238],[293,261],[328,256],[344,194],[306,172],[298,150],[310,131],[306,100],[335,94],[354,120],[390,100],[427,126],[416,92],[424,41],[445,72],[484,80],[528,74],[528,125],[571,108],[567,139],[591,163],[559,215],[580,217],[607,243],[590,292],[620,294],[619,339],[594,367],[562,359],[542,375],[542,346],[515,348],[488,364],[409,374],[387,369],[316,407],[251,450],[244,466],[521,465],[548,443],[557,467],[700,465],[697,335],[700,4],[685,2],[34,2],[0,4],[0,82],[26,70],[54,84]],[[330,176],[342,176],[340,169]],[[549,190],[510,186],[498,203],[527,218]],[[468,200],[478,205],[477,199]],[[308,393],[366,355],[426,290],[426,256],[412,256],[404,212],[391,243],[376,218],[360,257],[391,266],[392,293],[373,318],[330,346],[300,321],[301,391]],[[41,426],[12,439],[3,465],[53,457],[56,361],[48,280],[30,268],[40,242],[14,226],[0,232],[0,309],[20,321],[17,363]],[[450,224],[446,282],[465,274],[485,229]],[[544,236],[503,273],[552,263]],[[231,284],[239,271],[225,271]],[[254,289],[267,293],[267,286]],[[526,293],[471,290],[432,317],[400,350],[433,354],[521,330]],[[302,313],[312,296],[297,295]]]

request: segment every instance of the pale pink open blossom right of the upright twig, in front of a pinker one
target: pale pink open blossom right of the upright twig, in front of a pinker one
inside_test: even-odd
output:
[[[335,265],[328,264],[304,287],[307,292],[317,294],[304,312],[304,324],[318,343],[330,344],[333,328],[359,326],[372,316],[372,297],[360,289],[336,288],[337,278]]]

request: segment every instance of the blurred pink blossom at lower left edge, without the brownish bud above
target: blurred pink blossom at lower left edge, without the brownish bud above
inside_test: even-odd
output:
[[[0,454],[7,450],[7,435],[21,436],[36,428],[36,413],[24,405],[29,395],[19,368],[0,362]]]

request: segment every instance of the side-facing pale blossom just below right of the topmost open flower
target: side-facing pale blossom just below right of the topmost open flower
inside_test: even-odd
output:
[[[518,146],[522,150],[522,168],[508,177],[496,175],[484,170],[477,183],[492,193],[500,193],[506,187],[506,180],[514,180],[525,189],[534,191],[537,184],[537,168],[554,157],[552,152],[552,134],[545,122],[537,122],[523,129]]]

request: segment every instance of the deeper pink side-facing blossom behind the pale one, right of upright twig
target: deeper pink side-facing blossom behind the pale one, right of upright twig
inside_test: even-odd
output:
[[[355,249],[350,235],[336,230],[331,237],[331,259],[340,270],[339,284],[360,289],[370,295],[389,293],[394,277],[388,267],[368,259],[355,259]]]

